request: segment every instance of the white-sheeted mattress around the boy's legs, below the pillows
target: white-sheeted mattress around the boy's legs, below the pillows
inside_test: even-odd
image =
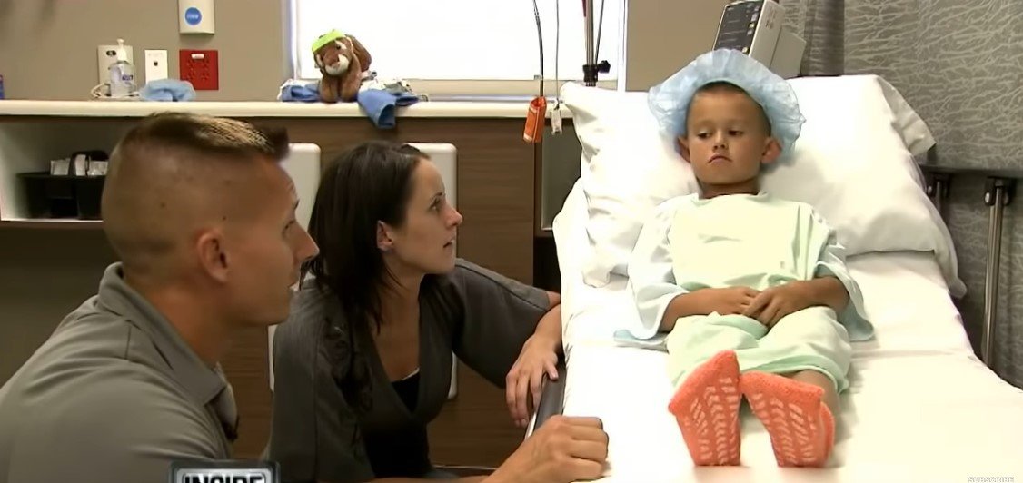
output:
[[[853,345],[851,387],[825,470],[779,469],[767,434],[745,406],[742,466],[695,469],[666,410],[667,355],[612,342],[611,334],[636,317],[626,280],[591,288],[572,276],[573,264],[562,267],[569,313],[564,413],[603,420],[610,437],[605,481],[1023,478],[1023,391],[974,356],[930,254],[849,260],[877,337]]]

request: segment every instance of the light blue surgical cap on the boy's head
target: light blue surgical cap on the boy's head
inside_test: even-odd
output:
[[[796,92],[764,64],[732,49],[707,52],[650,89],[650,109],[661,129],[672,136],[684,136],[693,96],[713,82],[727,82],[746,91],[767,115],[771,135],[782,145],[782,153],[791,152],[806,121],[799,112]]]

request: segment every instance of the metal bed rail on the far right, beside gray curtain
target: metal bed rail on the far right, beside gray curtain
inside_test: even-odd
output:
[[[933,153],[929,153],[933,161]],[[980,338],[980,358],[991,366],[993,335],[996,324],[998,300],[998,274],[1002,259],[1002,222],[1005,208],[1016,195],[1016,181],[1023,179],[1023,170],[999,170],[959,166],[919,165],[924,173],[927,195],[942,217],[944,202],[948,196],[951,180],[957,176],[984,177],[984,205],[989,208],[987,221],[987,266],[984,271],[984,324]]]

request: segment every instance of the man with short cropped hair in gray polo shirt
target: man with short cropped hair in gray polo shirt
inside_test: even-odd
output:
[[[218,361],[287,317],[317,253],[296,222],[283,132],[162,114],[115,148],[103,229],[120,263],[0,388],[0,483],[166,481],[230,457],[237,412]]]

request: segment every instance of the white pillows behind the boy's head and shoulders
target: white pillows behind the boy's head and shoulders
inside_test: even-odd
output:
[[[850,256],[933,251],[949,284],[961,284],[951,238],[913,159],[934,144],[923,120],[877,76],[790,82],[806,124],[794,152],[765,171],[763,189],[819,210]],[[651,211],[698,186],[674,141],[658,129],[644,92],[570,84],[562,95],[583,146],[591,248],[583,275],[599,287],[626,274]]]

